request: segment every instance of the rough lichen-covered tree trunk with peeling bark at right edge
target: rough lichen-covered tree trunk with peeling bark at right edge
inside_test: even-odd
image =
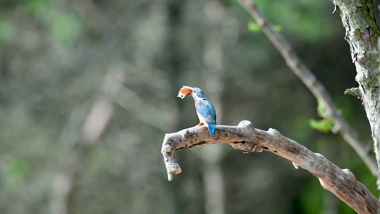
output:
[[[375,22],[372,0],[332,0],[332,2],[336,5],[336,11],[340,14],[346,29],[345,40],[350,45],[352,62],[356,67],[355,80],[359,84],[358,93],[369,120],[380,170],[377,127],[380,112],[379,63],[376,60],[377,56],[370,53],[377,48],[379,30]]]

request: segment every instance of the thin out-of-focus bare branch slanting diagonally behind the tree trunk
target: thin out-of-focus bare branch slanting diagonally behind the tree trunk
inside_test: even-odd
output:
[[[339,131],[345,141],[358,153],[372,174],[377,177],[379,172],[374,158],[370,156],[369,150],[366,144],[359,138],[358,132],[340,115],[325,86],[323,86],[310,69],[301,61],[288,41],[279,32],[274,30],[273,24],[258,10],[255,3],[250,0],[238,0],[238,2],[251,14],[258,26],[261,27],[269,40],[271,40],[273,45],[283,56],[286,64],[293,70],[294,74],[309,88],[318,101],[323,102],[326,117],[332,120],[334,129]]]

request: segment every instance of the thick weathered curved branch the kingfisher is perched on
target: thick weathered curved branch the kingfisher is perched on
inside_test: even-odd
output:
[[[323,155],[314,153],[282,136],[275,129],[268,131],[255,129],[250,121],[245,120],[237,126],[216,126],[215,136],[211,136],[204,126],[166,134],[161,153],[168,172],[168,180],[172,180],[174,175],[182,172],[174,159],[175,152],[220,143],[229,143],[234,149],[244,153],[266,150],[293,161],[296,168],[306,169],[318,177],[323,188],[334,193],[359,214],[376,213],[380,208],[380,201],[356,180],[349,169],[340,169]]]

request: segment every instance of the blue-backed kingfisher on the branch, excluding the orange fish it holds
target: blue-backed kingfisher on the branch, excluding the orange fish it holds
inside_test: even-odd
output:
[[[196,114],[199,118],[199,124],[203,123],[209,129],[211,135],[215,135],[216,126],[216,111],[214,105],[206,99],[203,91],[200,88],[192,88],[191,96],[195,100]]]

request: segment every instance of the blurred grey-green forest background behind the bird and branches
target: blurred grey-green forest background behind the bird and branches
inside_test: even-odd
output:
[[[356,72],[334,5],[257,3],[371,150],[363,106],[344,95]],[[0,213],[355,213],[290,161],[228,144],[176,153],[169,182],[165,133],[199,122],[184,85],[218,125],[275,128],[378,196],[342,137],[310,126],[315,98],[252,21],[235,0],[2,0]]]

